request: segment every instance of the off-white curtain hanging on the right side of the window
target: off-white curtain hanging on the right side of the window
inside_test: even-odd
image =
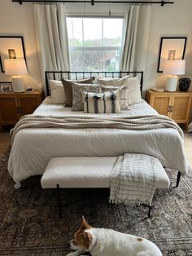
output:
[[[120,71],[145,71],[151,6],[129,6],[124,17]]]

